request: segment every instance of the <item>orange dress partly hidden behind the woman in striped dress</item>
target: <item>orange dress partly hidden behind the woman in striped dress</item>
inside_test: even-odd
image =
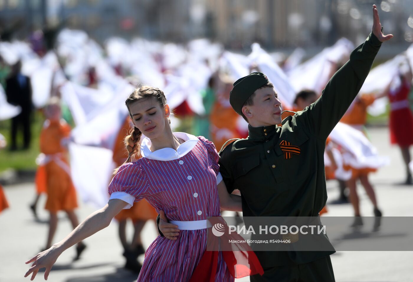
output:
[[[121,130],[119,130],[118,136],[116,137],[115,145],[113,148],[113,161],[116,167],[121,166],[128,158],[128,151],[126,151],[125,143],[123,140],[126,135],[129,135],[131,130],[130,118],[129,116],[125,119]],[[116,220],[126,220],[130,218],[131,220],[156,220],[158,213],[155,209],[145,200],[142,199],[139,202],[135,202],[130,209],[123,209],[116,216]]]

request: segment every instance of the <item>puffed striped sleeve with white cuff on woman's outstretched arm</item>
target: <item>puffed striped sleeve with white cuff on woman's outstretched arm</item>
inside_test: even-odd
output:
[[[128,203],[123,209],[129,209],[133,202],[147,196],[148,181],[142,166],[135,162],[123,164],[109,184],[110,199],[121,199]]]

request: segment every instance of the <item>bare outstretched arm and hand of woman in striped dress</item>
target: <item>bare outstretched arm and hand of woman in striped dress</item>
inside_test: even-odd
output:
[[[33,256],[27,263],[32,263],[31,268],[26,272],[24,277],[27,277],[31,273],[31,279],[36,277],[40,268],[46,268],[45,270],[45,280],[49,276],[52,266],[55,264],[57,258],[64,250],[70,248],[74,244],[82,241],[83,239],[95,234],[97,231],[108,227],[112,218],[118,214],[123,207],[125,207],[126,202],[120,199],[109,200],[106,206],[102,209],[91,213],[81,224],[79,224],[69,235],[66,236],[62,241],[53,244],[50,249],[43,251],[36,256]]]

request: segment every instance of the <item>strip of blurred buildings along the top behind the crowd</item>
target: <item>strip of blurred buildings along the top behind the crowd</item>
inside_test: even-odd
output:
[[[0,28],[23,21],[17,34],[48,24],[109,36],[184,42],[208,37],[231,49],[327,46],[340,37],[362,42],[376,3],[393,45],[413,42],[410,0],[0,0]]]

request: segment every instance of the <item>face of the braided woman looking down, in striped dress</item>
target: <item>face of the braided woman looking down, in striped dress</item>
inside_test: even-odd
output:
[[[135,126],[148,138],[156,138],[165,130],[170,114],[169,106],[162,107],[155,98],[142,98],[129,105]]]

